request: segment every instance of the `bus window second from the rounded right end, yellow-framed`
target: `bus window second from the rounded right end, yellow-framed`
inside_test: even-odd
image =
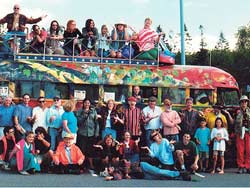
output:
[[[211,105],[212,104],[212,90],[190,89],[190,97],[194,99],[195,105]]]

